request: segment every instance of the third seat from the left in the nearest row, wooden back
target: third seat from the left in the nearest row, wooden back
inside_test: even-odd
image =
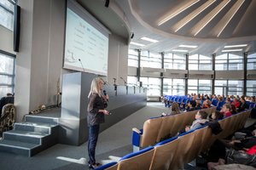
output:
[[[166,139],[154,146],[154,156],[151,161],[150,169],[168,170],[173,157],[177,155],[177,137]]]

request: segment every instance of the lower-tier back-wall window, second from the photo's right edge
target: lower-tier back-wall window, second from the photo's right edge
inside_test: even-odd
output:
[[[215,94],[242,95],[243,81],[241,80],[215,80]]]

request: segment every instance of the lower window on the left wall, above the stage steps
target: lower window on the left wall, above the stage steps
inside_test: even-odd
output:
[[[0,52],[0,97],[14,93],[15,57]]]

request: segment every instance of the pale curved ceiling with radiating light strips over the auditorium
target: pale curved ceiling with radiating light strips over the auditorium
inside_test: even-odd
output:
[[[108,8],[104,7],[105,1],[78,2],[109,30],[122,37],[134,33],[131,42],[145,45],[131,45],[131,48],[158,53],[187,49],[189,54],[209,55],[221,54],[225,45],[246,43],[241,52],[256,52],[256,0],[110,0]],[[211,5],[207,7],[208,4]],[[177,15],[159,26],[160,20],[170,14]],[[176,31],[179,26],[183,27]],[[141,37],[159,42],[147,42]],[[178,47],[181,44],[198,48]]]

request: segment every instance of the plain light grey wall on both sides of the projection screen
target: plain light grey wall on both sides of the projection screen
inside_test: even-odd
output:
[[[66,4],[63,0],[22,0],[20,52],[16,60],[17,122],[38,105],[55,105],[62,69]],[[127,77],[127,40],[109,36],[108,82]]]

